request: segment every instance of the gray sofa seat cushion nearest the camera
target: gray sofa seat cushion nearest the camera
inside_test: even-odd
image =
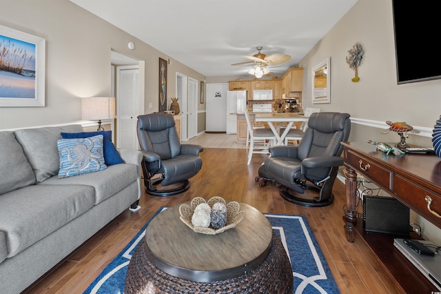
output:
[[[28,248],[94,205],[92,186],[33,185],[0,197],[0,231],[8,257]]]

